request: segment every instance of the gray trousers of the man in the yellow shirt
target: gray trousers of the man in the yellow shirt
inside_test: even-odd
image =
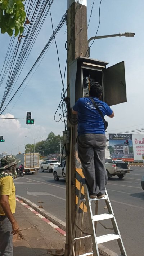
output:
[[[6,216],[0,216],[0,256],[13,256],[12,224]]]

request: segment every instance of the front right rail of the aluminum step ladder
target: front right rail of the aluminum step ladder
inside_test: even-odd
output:
[[[107,190],[105,190],[105,192],[106,192],[106,195],[108,197]],[[121,234],[120,234],[120,231],[118,229],[118,225],[117,225],[116,219],[114,217],[114,213],[113,213],[113,209],[112,209],[109,197],[108,197],[108,199],[105,199],[105,203],[107,205],[108,212],[113,215],[113,219],[111,219],[111,222],[112,222],[112,225],[113,225],[114,232],[117,233],[120,236],[120,239],[117,239],[117,242],[118,242],[118,246],[120,248],[121,254],[123,256],[127,256],[126,251],[125,251],[125,247],[124,247],[123,242],[122,242]]]

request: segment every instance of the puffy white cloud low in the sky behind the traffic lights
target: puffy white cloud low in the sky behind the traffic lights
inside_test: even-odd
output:
[[[1,115],[1,118],[14,118],[14,115],[10,113]],[[25,120],[17,119],[0,119],[0,135],[5,139],[4,143],[0,143],[0,154],[3,151],[8,152],[8,154],[17,154],[18,149],[21,153],[24,152],[23,144],[32,144],[41,140],[44,140],[48,133],[43,126],[40,125],[27,125],[23,127]],[[27,138],[27,137],[30,138]],[[39,138],[43,136],[42,138]],[[33,138],[33,139],[32,139]],[[39,138],[39,139],[36,139]]]

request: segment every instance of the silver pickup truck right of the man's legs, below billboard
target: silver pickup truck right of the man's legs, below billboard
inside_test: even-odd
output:
[[[107,170],[108,179],[115,175],[122,179],[126,173],[130,172],[129,163],[125,163],[122,160],[113,161],[111,158],[106,158],[105,167]]]

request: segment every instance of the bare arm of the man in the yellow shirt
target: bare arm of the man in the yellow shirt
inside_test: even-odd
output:
[[[19,226],[17,221],[15,220],[11,209],[10,209],[10,205],[9,205],[9,196],[8,195],[1,195],[0,197],[0,204],[1,207],[3,208],[3,211],[6,215],[6,217],[8,217],[9,221],[12,224],[12,233],[15,235],[18,233],[19,230]]]

